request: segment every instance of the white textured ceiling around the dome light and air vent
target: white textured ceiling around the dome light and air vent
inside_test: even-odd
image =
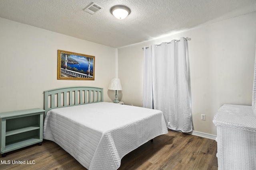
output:
[[[92,15],[92,2],[104,9]],[[126,5],[130,15],[110,14]],[[120,48],[256,11],[256,0],[0,0],[0,17]]]

